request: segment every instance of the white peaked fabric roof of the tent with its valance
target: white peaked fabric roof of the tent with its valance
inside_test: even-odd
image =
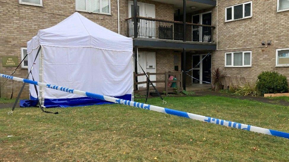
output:
[[[132,38],[125,37],[102,27],[78,12],[57,25],[39,30],[27,42],[30,53],[39,45],[54,47],[93,47],[105,50],[132,51]]]

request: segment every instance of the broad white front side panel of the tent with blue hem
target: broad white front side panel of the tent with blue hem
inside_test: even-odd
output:
[[[119,96],[131,100],[133,93],[132,51],[111,51],[97,48],[62,48],[42,46],[43,80],[47,84]],[[129,98],[127,98],[129,95]],[[80,105],[83,96],[43,89],[44,106],[65,107]],[[61,101],[61,104],[59,104]],[[63,102],[65,101],[65,102]],[[97,104],[99,101],[81,100],[81,105]]]

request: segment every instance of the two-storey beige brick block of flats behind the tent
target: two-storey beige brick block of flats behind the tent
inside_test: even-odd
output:
[[[192,69],[188,74],[193,78],[184,78],[187,86],[211,82],[214,67],[246,81],[256,81],[262,71],[289,75],[286,0],[1,0],[0,11],[1,60],[17,56],[20,62],[26,42],[38,30],[79,12],[109,30],[132,37],[134,52],[146,72]],[[14,76],[27,76],[24,64]],[[4,74],[14,69],[0,66]],[[2,85],[5,80],[0,81]],[[22,83],[12,81],[1,87],[1,96],[10,96],[12,86],[16,97]],[[28,98],[28,93],[26,86],[22,98]]]

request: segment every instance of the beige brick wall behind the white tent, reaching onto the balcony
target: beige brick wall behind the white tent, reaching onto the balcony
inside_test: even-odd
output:
[[[173,20],[173,5],[155,1],[142,1],[155,4],[155,15],[158,19]],[[128,0],[120,0],[120,30],[126,35],[126,21],[128,18]],[[0,62],[2,56],[18,56],[21,61],[20,47],[26,47],[26,42],[35,36],[40,29],[52,27],[66,17],[76,12],[75,0],[43,0],[43,7],[19,4],[18,0],[1,0],[0,2]],[[111,0],[111,15],[79,12],[91,21],[114,32],[117,25],[117,0]],[[173,56],[172,56],[173,57]],[[16,67],[2,67],[1,73],[11,74]],[[19,68],[14,76],[24,78],[27,69]],[[4,79],[1,78],[1,85]],[[14,95],[16,97],[22,83],[14,82]],[[12,81],[9,80],[1,87],[1,97],[9,97],[12,92]],[[25,87],[21,98],[28,98],[28,86]]]

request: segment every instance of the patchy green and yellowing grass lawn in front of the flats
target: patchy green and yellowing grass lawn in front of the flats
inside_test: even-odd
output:
[[[288,107],[219,96],[165,100],[148,103],[289,132]],[[0,109],[0,161],[289,161],[288,139],[126,105],[8,111]]]

